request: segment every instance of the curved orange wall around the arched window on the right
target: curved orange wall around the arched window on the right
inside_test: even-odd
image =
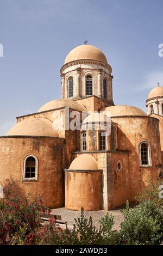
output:
[[[149,181],[158,179],[161,164],[159,121],[150,117],[113,118],[118,124],[118,150],[129,150],[130,200]],[[151,147],[152,166],[140,166],[139,144],[147,141]]]

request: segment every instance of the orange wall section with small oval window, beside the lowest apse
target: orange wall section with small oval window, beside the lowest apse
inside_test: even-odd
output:
[[[87,152],[88,153],[88,152]],[[74,154],[74,158],[81,153]],[[129,199],[128,153],[90,152],[102,169],[101,209],[111,210],[126,203]],[[118,172],[117,162],[121,161],[122,171]],[[96,195],[95,195],[96,196]]]

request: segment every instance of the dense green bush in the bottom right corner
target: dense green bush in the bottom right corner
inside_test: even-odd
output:
[[[121,243],[127,245],[155,245],[162,239],[162,214],[151,200],[136,205],[133,209],[126,204],[122,211],[124,221],[121,222]]]

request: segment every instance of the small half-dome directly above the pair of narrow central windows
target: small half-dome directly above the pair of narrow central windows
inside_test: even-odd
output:
[[[84,119],[83,124],[86,123],[100,123],[100,122],[110,122],[110,118],[103,114],[103,113],[92,113],[90,115],[87,115],[87,117]]]

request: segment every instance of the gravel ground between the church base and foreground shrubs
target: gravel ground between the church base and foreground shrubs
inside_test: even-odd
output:
[[[85,211],[85,217],[89,218],[90,216],[92,216],[93,224],[96,226],[96,228],[99,228],[99,225],[100,225],[99,224],[99,219],[102,216],[104,216],[105,214],[107,214],[107,212],[108,212],[109,214],[112,214],[114,216],[115,224],[114,224],[113,229],[118,230],[120,228],[120,222],[123,220],[121,209],[110,210],[110,211],[105,211],[105,210]],[[56,215],[61,215],[61,219],[63,221],[67,221],[68,227],[73,226],[74,218],[80,217],[80,212],[79,211],[71,211],[71,210],[67,210],[65,208],[53,209],[51,213],[56,214]]]

